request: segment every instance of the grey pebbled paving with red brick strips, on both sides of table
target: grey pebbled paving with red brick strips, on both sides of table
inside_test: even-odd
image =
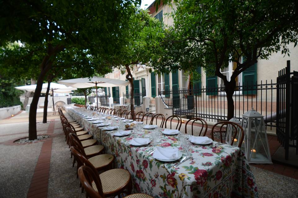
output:
[[[0,197],[85,197],[80,193],[59,119],[37,123],[38,134],[51,137],[31,144],[13,143],[27,136],[28,122],[0,124],[0,128]],[[269,136],[272,153],[276,142],[275,136]],[[297,197],[298,169],[277,164],[254,165],[251,169],[260,197]]]

